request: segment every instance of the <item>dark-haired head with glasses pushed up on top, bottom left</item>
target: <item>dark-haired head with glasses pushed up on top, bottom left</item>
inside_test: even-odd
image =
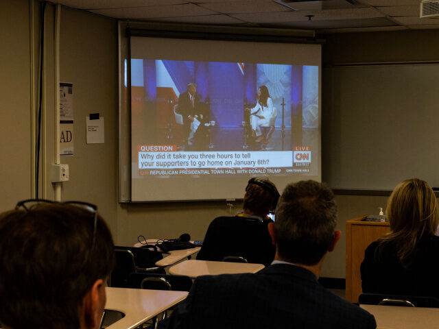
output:
[[[115,264],[104,220],[69,204],[0,215],[0,322],[12,329],[99,326]]]

